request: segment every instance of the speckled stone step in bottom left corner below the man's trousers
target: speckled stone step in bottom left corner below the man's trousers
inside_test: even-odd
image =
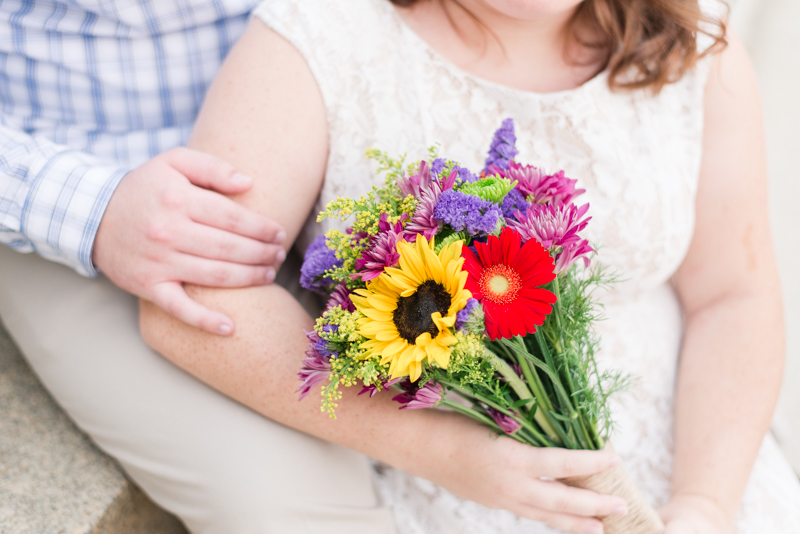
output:
[[[186,534],[75,427],[2,325],[0,532]]]

